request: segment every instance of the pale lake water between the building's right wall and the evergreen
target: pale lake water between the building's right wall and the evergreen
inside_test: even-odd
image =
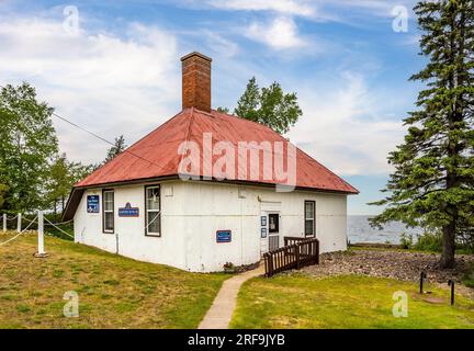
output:
[[[403,223],[392,222],[382,230],[373,229],[369,225],[371,216],[348,216],[348,237],[351,244],[356,242],[391,242],[399,244],[402,233],[416,236],[421,234],[420,228],[406,228]]]

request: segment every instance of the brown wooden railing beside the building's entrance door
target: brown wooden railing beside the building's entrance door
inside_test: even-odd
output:
[[[318,239],[285,237],[284,242],[284,247],[263,254],[267,278],[286,270],[319,263]]]

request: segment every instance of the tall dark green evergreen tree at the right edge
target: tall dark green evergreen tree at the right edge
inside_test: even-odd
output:
[[[427,88],[404,120],[405,141],[388,156],[390,195],[374,203],[387,207],[372,225],[403,220],[440,230],[440,263],[451,268],[456,236],[474,228],[474,1],[420,1],[415,12],[428,64],[410,79]]]

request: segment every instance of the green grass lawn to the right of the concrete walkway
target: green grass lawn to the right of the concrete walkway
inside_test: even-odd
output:
[[[416,283],[345,275],[316,280],[301,273],[256,278],[242,285],[233,328],[474,328],[474,302]],[[396,318],[393,293],[408,295],[408,317]],[[425,301],[430,298],[431,302]],[[435,301],[435,302],[433,302]]]

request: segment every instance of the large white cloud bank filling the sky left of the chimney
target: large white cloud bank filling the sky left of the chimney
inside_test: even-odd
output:
[[[31,82],[57,113],[108,139],[132,143],[179,109],[176,38],[158,27],[131,24],[125,38],[70,35],[58,20],[0,18],[0,47],[1,84]],[[103,158],[106,144],[54,122],[71,158]]]

